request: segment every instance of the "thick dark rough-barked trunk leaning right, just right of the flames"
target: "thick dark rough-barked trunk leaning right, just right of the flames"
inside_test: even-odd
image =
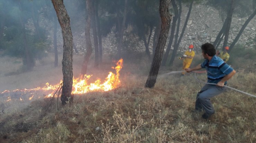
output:
[[[157,74],[163,57],[164,46],[170,29],[171,15],[168,11],[170,2],[171,0],[160,0],[159,12],[162,20],[161,32],[145,87],[152,88],[156,83]]]

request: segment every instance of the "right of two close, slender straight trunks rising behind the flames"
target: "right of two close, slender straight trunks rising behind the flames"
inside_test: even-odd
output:
[[[96,1],[95,15],[96,15],[97,32],[98,32],[98,39],[99,39],[99,63],[102,63],[102,37],[101,37],[100,20],[99,20],[99,14],[98,14],[98,6],[99,6],[99,1]]]

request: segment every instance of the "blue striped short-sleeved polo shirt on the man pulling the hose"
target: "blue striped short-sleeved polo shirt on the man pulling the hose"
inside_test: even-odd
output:
[[[207,82],[214,84],[217,84],[224,76],[228,75],[234,70],[216,55],[212,57],[211,61],[205,59],[205,61],[201,64],[201,67],[207,70]],[[225,82],[225,85],[226,84],[227,81]]]

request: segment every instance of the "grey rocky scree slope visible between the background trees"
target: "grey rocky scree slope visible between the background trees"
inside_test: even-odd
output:
[[[184,21],[186,19],[186,15],[188,13],[188,4],[183,4],[182,7],[182,18],[181,18],[181,27],[180,32],[182,30]],[[238,15],[233,14],[232,17],[232,23],[230,27],[230,34],[229,34],[229,40],[228,45],[232,43],[232,41],[235,39],[236,35],[238,34],[239,30],[241,29],[241,26],[244,24],[244,22],[247,20],[247,17],[241,18],[238,17]],[[83,21],[84,18],[82,18],[81,21]],[[42,22],[45,22],[47,20],[44,20]],[[71,17],[71,23],[72,23],[72,17]],[[254,17],[250,23],[247,25],[246,29],[244,30],[243,34],[240,36],[239,41],[237,44],[245,45],[245,48],[255,48],[256,41],[255,41],[255,34],[256,34],[256,18]],[[48,39],[50,41],[53,41],[53,31],[51,30],[51,22],[48,22],[48,29],[50,35],[48,35]],[[47,25],[46,24],[46,25]],[[84,23],[81,22],[81,25]],[[180,52],[183,52],[186,50],[188,45],[193,44],[195,51],[200,50],[200,46],[205,42],[211,42],[213,43],[216,39],[216,36],[218,35],[220,29],[222,28],[223,21],[221,20],[219,16],[219,11],[215,8],[209,6],[206,2],[201,3],[194,3],[191,11],[191,15],[188,21],[188,25],[186,26],[185,33],[183,35],[182,41],[179,45]],[[84,27],[84,26],[81,26]],[[131,35],[129,33],[130,30],[125,31],[124,41],[127,44],[127,47],[124,49],[132,48],[133,50],[136,50],[138,52],[144,52],[145,46],[143,41],[139,40],[138,37],[135,35]],[[80,54],[84,55],[85,53],[85,36],[84,36],[84,30],[81,30],[79,32],[73,32],[73,40],[74,44],[79,51]],[[151,41],[153,40],[153,34],[151,37]],[[62,41],[62,33],[60,27],[58,28],[58,50],[62,52],[63,47],[63,41]],[[170,34],[169,34],[170,36]],[[92,31],[91,31],[91,41],[93,45],[93,37],[92,37]],[[167,40],[168,42],[168,40]],[[166,43],[166,47],[167,47]],[[51,49],[53,49],[53,45],[51,45]],[[117,42],[115,33],[111,32],[106,37],[102,38],[102,47],[103,47],[103,53],[104,54],[114,54],[117,51]],[[150,42],[149,45],[150,51],[152,52],[153,49],[153,42]]]

